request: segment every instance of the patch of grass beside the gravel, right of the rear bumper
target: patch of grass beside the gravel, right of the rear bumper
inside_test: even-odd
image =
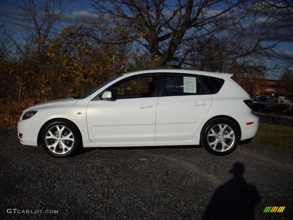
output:
[[[260,123],[253,140],[267,147],[293,150],[293,128]]]

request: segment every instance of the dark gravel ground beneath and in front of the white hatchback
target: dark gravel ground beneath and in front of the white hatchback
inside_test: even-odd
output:
[[[0,138],[0,219],[293,216],[293,150],[251,142],[224,157],[199,146],[178,146],[94,148],[53,158],[41,147],[21,145],[16,129],[1,131]],[[263,213],[268,206],[285,209]],[[26,210],[30,213],[17,213]]]

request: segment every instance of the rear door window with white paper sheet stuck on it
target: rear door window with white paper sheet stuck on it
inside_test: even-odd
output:
[[[164,96],[205,95],[207,92],[197,76],[167,75]]]

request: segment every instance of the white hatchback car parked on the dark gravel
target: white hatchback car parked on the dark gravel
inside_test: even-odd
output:
[[[17,124],[23,145],[53,156],[79,147],[199,145],[215,155],[255,136],[258,117],[232,74],[146,70],[119,75],[79,97],[31,106]]]

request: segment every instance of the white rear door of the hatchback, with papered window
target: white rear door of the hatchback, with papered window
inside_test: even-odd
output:
[[[156,113],[156,141],[188,140],[212,104],[197,75],[166,73]]]

